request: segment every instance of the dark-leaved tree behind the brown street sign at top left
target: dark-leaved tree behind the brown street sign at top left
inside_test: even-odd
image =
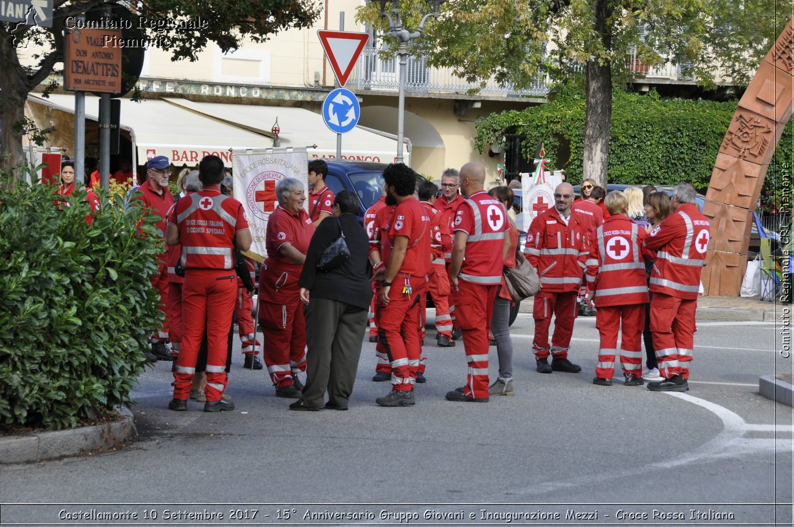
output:
[[[63,60],[64,22],[67,17],[86,13],[102,2],[54,0],[52,28],[0,22],[0,168],[22,161],[22,137],[31,132],[25,119],[25,99],[55,71]],[[118,3],[129,5],[128,2]],[[319,16],[315,0],[141,0],[134,20],[145,17],[141,27],[146,37],[165,36],[171,44],[172,60],[196,60],[210,41],[222,51],[238,48],[245,39],[260,42],[268,35],[291,27],[308,27]],[[203,29],[164,29],[169,22],[202,20]],[[35,67],[26,67],[20,56],[31,47],[44,51],[32,55]],[[5,159],[4,159],[5,158]]]

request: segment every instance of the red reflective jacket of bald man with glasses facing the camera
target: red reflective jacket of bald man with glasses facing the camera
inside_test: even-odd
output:
[[[579,290],[590,248],[587,227],[572,211],[568,225],[556,207],[538,214],[526,233],[524,254],[538,270],[541,289],[551,292]]]

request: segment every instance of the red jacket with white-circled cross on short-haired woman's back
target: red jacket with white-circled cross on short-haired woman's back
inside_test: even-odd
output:
[[[596,229],[586,262],[595,306],[648,303],[643,256],[653,258],[653,253],[642,248],[645,237],[645,229],[622,214],[613,214]]]

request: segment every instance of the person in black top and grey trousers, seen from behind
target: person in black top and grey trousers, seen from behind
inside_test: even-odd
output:
[[[348,409],[367,329],[372,265],[367,234],[356,219],[353,190],[341,190],[332,210],[333,216],[326,217],[311,238],[298,281],[306,315],[306,385],[290,410]],[[319,271],[322,253],[340,237],[340,229],[350,256],[332,271]],[[328,402],[323,405],[326,388]]]

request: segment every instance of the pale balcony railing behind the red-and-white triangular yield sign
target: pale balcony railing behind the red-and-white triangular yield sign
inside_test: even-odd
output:
[[[454,75],[450,67],[428,67],[423,57],[408,56],[407,68],[406,93],[465,94],[468,90],[479,90],[482,95],[502,97],[545,97],[549,93],[549,86],[542,78],[522,90],[501,87],[494,79],[488,79],[481,88],[478,83],[469,83]],[[378,56],[378,48],[364,48],[348,86],[362,90],[399,90],[399,60],[383,60]]]

